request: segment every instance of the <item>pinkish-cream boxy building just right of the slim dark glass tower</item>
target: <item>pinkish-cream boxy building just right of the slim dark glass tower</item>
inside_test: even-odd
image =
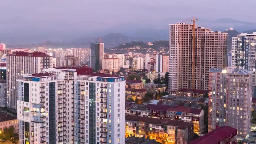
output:
[[[108,70],[110,73],[118,72],[120,70],[118,58],[105,58],[102,59],[102,69]]]

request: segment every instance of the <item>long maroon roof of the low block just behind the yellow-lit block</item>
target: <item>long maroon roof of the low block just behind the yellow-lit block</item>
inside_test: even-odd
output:
[[[200,108],[187,108],[182,106],[172,106],[172,105],[146,105],[146,108],[153,109],[157,111],[179,111],[179,112],[186,112],[199,115],[202,109]]]

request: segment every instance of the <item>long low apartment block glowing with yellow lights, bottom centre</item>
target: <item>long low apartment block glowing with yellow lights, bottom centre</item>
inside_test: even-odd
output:
[[[188,144],[193,134],[193,124],[188,122],[125,116],[125,137],[145,137],[162,144]]]

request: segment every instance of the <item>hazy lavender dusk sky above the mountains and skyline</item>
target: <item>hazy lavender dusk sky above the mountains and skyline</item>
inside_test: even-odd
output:
[[[73,41],[112,32],[143,36],[192,16],[256,23],[256,0],[0,0],[0,5],[0,41],[7,43]]]

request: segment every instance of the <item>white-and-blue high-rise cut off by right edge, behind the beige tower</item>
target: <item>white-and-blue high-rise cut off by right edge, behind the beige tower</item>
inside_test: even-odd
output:
[[[256,32],[242,33],[232,38],[232,66],[253,72],[253,86],[256,82]]]

